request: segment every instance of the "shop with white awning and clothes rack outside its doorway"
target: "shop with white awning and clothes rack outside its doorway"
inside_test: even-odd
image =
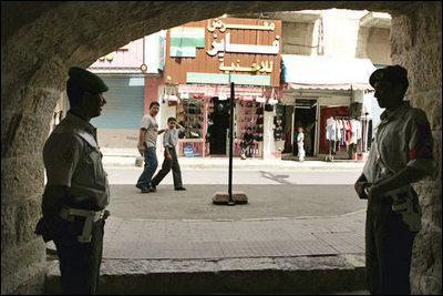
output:
[[[293,141],[297,129],[302,126],[307,156],[352,159],[367,153],[372,124],[365,102],[372,98],[369,76],[375,70],[370,60],[303,55],[281,55],[281,59],[282,104],[291,122],[285,131],[290,139],[285,143],[285,152],[297,154]],[[332,121],[337,129],[334,139],[327,134]]]

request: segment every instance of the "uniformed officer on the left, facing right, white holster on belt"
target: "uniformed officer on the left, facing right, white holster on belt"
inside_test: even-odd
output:
[[[110,188],[90,120],[100,116],[107,86],[81,68],[69,76],[71,109],[43,147],[48,183],[35,233],[55,243],[63,293],[96,294]]]

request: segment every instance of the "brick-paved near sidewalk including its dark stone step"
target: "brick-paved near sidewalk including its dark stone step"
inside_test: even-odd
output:
[[[241,221],[111,216],[100,292],[367,295],[363,225],[364,211]],[[47,278],[45,293],[60,293],[56,261]]]

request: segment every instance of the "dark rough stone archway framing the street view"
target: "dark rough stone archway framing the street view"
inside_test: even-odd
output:
[[[421,182],[423,231],[416,239],[412,290],[441,294],[442,6],[411,1],[2,2],[1,293],[41,293],[44,244],[33,234],[43,191],[41,151],[68,69],[131,40],[224,13],[357,9],[392,14],[392,60],[410,73],[408,98],[426,111],[436,174]],[[19,259],[18,259],[19,258]]]

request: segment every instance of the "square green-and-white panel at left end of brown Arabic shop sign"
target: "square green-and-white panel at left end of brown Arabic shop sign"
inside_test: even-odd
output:
[[[169,42],[169,57],[195,58],[196,49],[205,47],[205,28],[173,28],[171,29]]]

